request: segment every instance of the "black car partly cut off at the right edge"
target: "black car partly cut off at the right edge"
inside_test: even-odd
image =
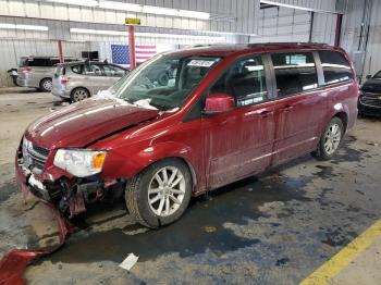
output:
[[[368,115],[381,115],[381,71],[368,75],[361,86],[358,99],[358,112]]]

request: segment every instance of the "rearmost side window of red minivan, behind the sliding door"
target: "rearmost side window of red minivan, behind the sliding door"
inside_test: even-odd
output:
[[[327,85],[346,82],[354,78],[351,65],[342,53],[321,50],[319,51],[319,55]]]

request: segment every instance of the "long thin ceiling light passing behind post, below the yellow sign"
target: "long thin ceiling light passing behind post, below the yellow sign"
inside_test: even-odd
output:
[[[112,36],[128,36],[127,32],[123,30],[100,30],[88,28],[70,28],[70,33],[73,34],[88,34],[88,35],[112,35]],[[159,33],[135,33],[136,37],[150,37],[150,38],[175,38],[175,39],[199,39],[209,40],[213,42],[225,41],[224,37],[212,36],[196,36],[196,35],[180,35],[180,34],[159,34]]]

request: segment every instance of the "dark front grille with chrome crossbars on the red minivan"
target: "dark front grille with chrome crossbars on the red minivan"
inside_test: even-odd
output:
[[[48,160],[49,150],[23,139],[24,165],[35,173],[41,173]]]

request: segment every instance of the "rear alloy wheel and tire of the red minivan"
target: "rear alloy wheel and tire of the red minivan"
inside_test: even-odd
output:
[[[344,135],[344,125],[342,120],[333,117],[322,134],[317,151],[312,152],[312,156],[322,159],[330,160],[340,147]]]

